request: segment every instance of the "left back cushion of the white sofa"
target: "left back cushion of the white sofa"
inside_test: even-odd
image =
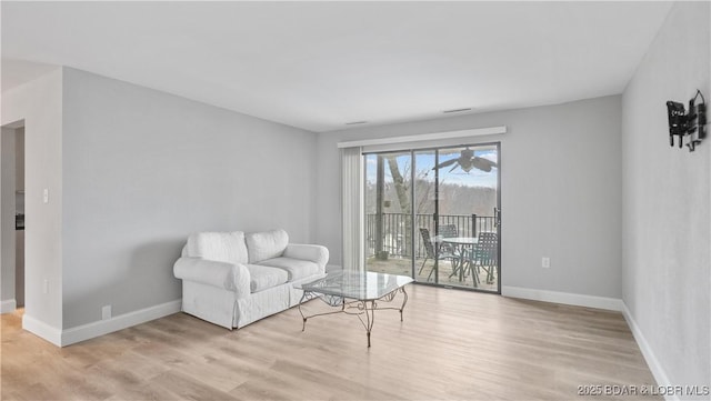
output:
[[[188,238],[188,255],[227,263],[247,263],[248,252],[242,231],[199,232]]]

